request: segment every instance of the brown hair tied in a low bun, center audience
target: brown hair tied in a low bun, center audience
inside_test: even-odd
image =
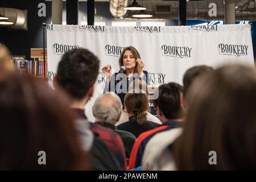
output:
[[[143,125],[147,121],[148,96],[146,93],[127,93],[125,95],[125,107],[132,121]]]

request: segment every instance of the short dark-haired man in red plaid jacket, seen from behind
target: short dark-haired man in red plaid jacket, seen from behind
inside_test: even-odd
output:
[[[93,96],[99,65],[98,58],[88,49],[72,49],[61,57],[57,67],[55,88],[63,89],[69,95],[72,100],[72,110],[76,113],[78,119],[84,119],[86,123],[88,121],[84,107],[90,97]],[[90,123],[90,130],[94,133],[94,137],[100,137],[104,140],[113,156],[118,159],[122,166],[121,169],[126,169],[125,149],[121,137],[113,130],[102,127],[97,123]],[[98,150],[102,149],[98,148]],[[91,155],[95,153],[97,152],[90,152]],[[118,170],[118,167],[116,170]]]

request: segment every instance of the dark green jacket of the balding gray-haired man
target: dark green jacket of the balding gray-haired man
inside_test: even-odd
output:
[[[96,123],[100,124],[101,126],[108,127],[119,134],[119,136],[122,138],[123,145],[125,146],[126,158],[130,158],[131,149],[133,148],[133,144],[136,140],[136,137],[134,136],[134,134],[128,131],[118,130],[116,126],[108,122],[96,122]]]

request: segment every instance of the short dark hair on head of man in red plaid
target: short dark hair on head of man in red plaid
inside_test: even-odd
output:
[[[88,49],[72,49],[61,57],[56,81],[72,98],[80,100],[96,81],[100,61]]]

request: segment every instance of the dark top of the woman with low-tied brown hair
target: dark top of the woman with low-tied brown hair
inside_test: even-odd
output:
[[[131,117],[129,117],[129,121],[122,123],[121,125],[118,125],[117,129],[129,131],[130,133],[134,134],[135,137],[137,138],[143,132],[152,130],[158,126],[159,126],[159,124],[151,122],[151,121],[146,121],[142,125],[139,125],[136,121],[131,121]]]

